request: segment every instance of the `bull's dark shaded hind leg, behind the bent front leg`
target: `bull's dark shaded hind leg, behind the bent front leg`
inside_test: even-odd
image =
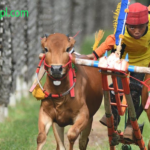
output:
[[[91,132],[93,118],[91,118],[88,122],[87,127],[81,132],[80,139],[79,139],[79,148],[80,150],[86,150],[88,144],[88,136]]]

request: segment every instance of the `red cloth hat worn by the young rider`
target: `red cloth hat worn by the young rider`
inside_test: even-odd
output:
[[[139,25],[148,22],[148,8],[140,3],[129,6],[126,23],[129,25]]]

